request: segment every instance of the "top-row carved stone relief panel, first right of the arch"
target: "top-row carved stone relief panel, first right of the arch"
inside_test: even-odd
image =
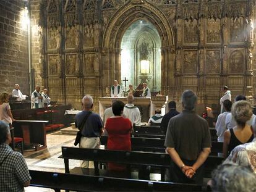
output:
[[[198,43],[197,20],[184,21],[184,43]]]

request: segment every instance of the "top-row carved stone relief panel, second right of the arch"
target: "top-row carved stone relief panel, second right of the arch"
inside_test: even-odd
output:
[[[220,19],[207,21],[207,43],[220,43]]]

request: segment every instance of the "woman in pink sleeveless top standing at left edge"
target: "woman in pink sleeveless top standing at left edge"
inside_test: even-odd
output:
[[[0,120],[10,124],[14,121],[12,117],[11,107],[9,105],[9,95],[2,93],[0,95]]]

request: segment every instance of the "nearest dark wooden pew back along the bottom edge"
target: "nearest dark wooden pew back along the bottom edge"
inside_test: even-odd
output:
[[[207,186],[30,170],[30,186],[55,191],[210,191]]]

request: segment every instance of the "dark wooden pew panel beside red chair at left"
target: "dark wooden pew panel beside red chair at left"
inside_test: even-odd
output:
[[[45,124],[48,120],[15,120],[14,136],[23,138],[24,148],[35,148],[36,151],[45,149],[46,131]]]

